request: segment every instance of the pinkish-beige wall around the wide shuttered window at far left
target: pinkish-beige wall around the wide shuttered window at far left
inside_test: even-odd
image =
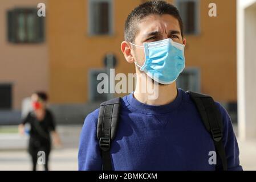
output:
[[[47,43],[13,44],[7,41],[7,10],[37,8],[38,3],[34,0],[0,1],[0,84],[13,84],[13,109],[21,109],[22,99],[35,90],[48,90]]]

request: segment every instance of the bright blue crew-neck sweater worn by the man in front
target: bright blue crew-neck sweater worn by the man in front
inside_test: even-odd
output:
[[[239,149],[227,111],[218,102],[224,125],[229,170],[242,170]],[[80,134],[79,170],[101,170],[96,127],[99,109],[87,115]],[[188,93],[178,89],[167,105],[152,106],[133,94],[121,100],[119,127],[111,146],[113,170],[215,170],[209,164],[213,140]]]

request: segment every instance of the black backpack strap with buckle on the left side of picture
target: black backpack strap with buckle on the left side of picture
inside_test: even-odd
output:
[[[97,138],[99,139],[100,154],[103,160],[102,170],[111,171],[111,141],[115,138],[118,121],[121,98],[100,104],[99,117],[97,122]]]

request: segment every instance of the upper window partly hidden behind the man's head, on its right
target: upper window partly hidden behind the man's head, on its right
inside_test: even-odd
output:
[[[197,34],[199,31],[199,2],[198,0],[177,0],[177,8],[180,11],[184,23],[185,34]]]

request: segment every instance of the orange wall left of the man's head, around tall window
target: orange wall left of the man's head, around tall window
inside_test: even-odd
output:
[[[134,65],[124,60],[120,43],[124,20],[139,3],[114,1],[113,36],[88,36],[87,0],[49,2],[51,102],[88,101],[88,71],[103,67],[105,53],[115,53],[119,61],[117,72],[133,72]]]

